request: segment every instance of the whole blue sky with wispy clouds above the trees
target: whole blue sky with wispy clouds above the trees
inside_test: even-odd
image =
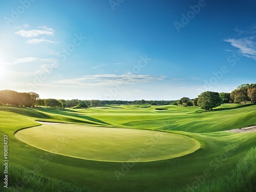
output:
[[[0,2],[0,90],[176,100],[255,83],[255,1]]]

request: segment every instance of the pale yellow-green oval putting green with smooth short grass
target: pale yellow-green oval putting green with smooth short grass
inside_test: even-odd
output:
[[[15,137],[54,154],[111,162],[170,159],[200,147],[197,140],[178,134],[75,124],[42,124]]]

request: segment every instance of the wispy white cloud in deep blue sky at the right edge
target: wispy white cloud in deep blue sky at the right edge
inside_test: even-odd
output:
[[[233,47],[238,48],[238,51],[226,51],[238,52],[243,56],[256,60],[256,26],[254,25],[244,31],[238,29],[235,29],[235,31],[239,33],[239,37],[225,39],[225,41],[230,42]]]

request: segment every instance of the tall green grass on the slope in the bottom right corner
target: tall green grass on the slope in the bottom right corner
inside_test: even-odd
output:
[[[231,172],[198,187],[181,191],[254,192],[256,191],[256,147],[252,147]]]

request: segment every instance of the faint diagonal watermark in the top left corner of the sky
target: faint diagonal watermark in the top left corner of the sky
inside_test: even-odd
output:
[[[27,9],[30,8],[31,3],[34,3],[36,0],[24,0],[19,1],[19,6],[16,7],[16,9],[11,9],[11,15],[5,16],[5,24],[7,27],[10,27],[10,24],[14,23],[15,20],[17,20],[20,15],[24,14]]]

